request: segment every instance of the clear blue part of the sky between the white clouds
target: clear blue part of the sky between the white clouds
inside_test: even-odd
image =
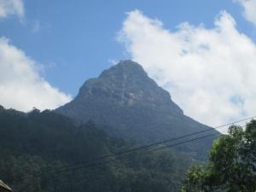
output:
[[[21,22],[15,15],[0,21],[0,35],[44,65],[44,79],[73,96],[84,80],[111,65],[108,60],[130,57],[116,34],[125,13],[134,9],[162,20],[170,30],[183,21],[212,27],[219,11],[225,9],[236,18],[241,32],[255,37],[253,26],[241,15],[241,6],[231,0],[26,0],[24,9]]]

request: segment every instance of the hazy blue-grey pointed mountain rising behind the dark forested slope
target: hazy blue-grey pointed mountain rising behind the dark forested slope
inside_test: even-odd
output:
[[[143,67],[129,60],[120,61],[98,78],[87,80],[78,96],[55,112],[79,124],[93,119],[111,136],[138,143],[158,142],[209,128],[184,115],[170,94],[150,79]],[[206,157],[214,138],[177,148]]]

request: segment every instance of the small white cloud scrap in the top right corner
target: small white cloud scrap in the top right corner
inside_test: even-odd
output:
[[[243,15],[256,25],[256,0],[236,0],[243,8]]]

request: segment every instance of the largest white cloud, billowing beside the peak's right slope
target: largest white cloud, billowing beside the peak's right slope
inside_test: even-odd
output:
[[[256,115],[256,44],[225,11],[214,24],[207,29],[182,23],[170,31],[135,10],[119,32],[132,59],[184,113],[207,125]]]

